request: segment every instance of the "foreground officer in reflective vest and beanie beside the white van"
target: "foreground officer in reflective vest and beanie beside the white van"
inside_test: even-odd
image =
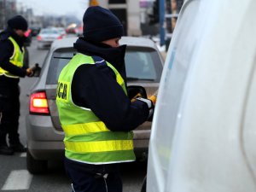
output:
[[[61,71],[56,104],[65,132],[65,167],[75,192],[121,192],[119,164],[135,160],[132,130],[153,114],[148,99],[127,96],[124,29],[108,9],[83,17],[78,53]]]

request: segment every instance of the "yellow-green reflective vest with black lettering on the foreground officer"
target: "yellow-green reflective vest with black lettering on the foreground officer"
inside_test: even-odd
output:
[[[62,129],[65,132],[65,155],[72,160],[104,164],[135,160],[132,131],[110,131],[89,108],[73,103],[71,82],[76,69],[83,64],[95,64],[92,57],[73,56],[61,71],[56,93]],[[118,71],[107,62],[116,75],[116,81],[126,93],[125,82]]]

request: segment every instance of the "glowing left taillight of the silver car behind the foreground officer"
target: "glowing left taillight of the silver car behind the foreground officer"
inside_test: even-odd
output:
[[[49,114],[48,102],[45,92],[32,93],[30,96],[29,113]]]

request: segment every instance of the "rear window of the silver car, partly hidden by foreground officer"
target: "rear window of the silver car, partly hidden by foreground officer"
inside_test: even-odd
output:
[[[51,56],[46,84],[57,84],[59,74],[75,54],[74,49],[56,49]],[[127,47],[125,54],[127,80],[160,82],[162,65],[154,49]]]

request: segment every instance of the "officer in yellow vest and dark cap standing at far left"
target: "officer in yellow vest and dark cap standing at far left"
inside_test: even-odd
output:
[[[18,133],[20,117],[20,77],[32,76],[23,66],[26,19],[16,15],[0,33],[0,154],[24,152]],[[9,145],[7,143],[9,136]]]

